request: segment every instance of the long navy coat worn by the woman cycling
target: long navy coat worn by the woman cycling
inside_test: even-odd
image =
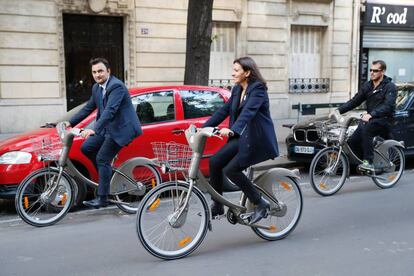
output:
[[[260,82],[247,86],[246,99],[239,107],[242,87],[236,85],[231,97],[204,126],[218,126],[230,116],[230,129],[239,137],[239,163],[242,167],[279,155],[275,129],[269,111],[266,87]],[[238,114],[238,109],[241,109]]]

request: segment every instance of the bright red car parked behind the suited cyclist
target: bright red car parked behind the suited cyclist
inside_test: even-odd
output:
[[[143,135],[121,150],[115,166],[126,160],[143,156],[153,158],[151,142],[170,142],[186,144],[183,130],[190,124],[201,126],[230,97],[230,92],[222,88],[203,86],[158,86],[129,89],[131,100],[140,118]],[[14,198],[17,185],[32,171],[44,166],[36,156],[36,145],[42,140],[57,139],[55,124],[68,120],[83,105],[80,105],[53,123],[0,141],[0,198]],[[75,127],[90,128],[95,122],[96,112]],[[228,120],[221,127],[228,126]],[[95,167],[84,156],[80,147],[81,137],[76,137],[69,157],[80,172],[97,181]],[[225,141],[210,139],[207,142],[206,157],[214,154]],[[201,164],[204,174],[208,175],[208,160]],[[79,182],[79,181],[78,181]],[[77,183],[79,194],[77,202],[86,196],[86,185]]]

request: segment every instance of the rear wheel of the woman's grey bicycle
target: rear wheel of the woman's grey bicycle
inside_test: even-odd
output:
[[[296,180],[291,177],[278,177],[266,187],[266,191],[280,202],[280,208],[265,193],[262,193],[271,205],[269,215],[259,221],[262,229],[252,227],[252,230],[261,238],[275,241],[285,238],[296,227],[302,214],[302,192]]]

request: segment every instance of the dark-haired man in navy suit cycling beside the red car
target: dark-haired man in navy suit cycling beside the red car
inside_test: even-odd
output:
[[[81,132],[81,136],[86,139],[81,150],[95,164],[99,174],[97,197],[83,204],[100,208],[108,205],[112,159],[122,147],[141,135],[142,130],[128,89],[122,81],[111,75],[108,61],[94,58],[89,64],[96,82],[92,87],[92,96],[66,125],[74,126],[98,109],[94,128]]]

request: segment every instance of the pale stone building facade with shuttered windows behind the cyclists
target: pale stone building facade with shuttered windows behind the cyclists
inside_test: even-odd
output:
[[[75,47],[68,45],[72,25],[66,20],[80,24],[76,15],[120,18],[121,31],[110,31],[122,32],[115,54],[121,53],[118,72],[127,86],[182,84],[187,5],[188,0],[0,0],[0,133],[35,128],[67,111],[73,86],[68,75],[77,56],[68,58]],[[299,102],[349,99],[357,89],[360,5],[214,0],[212,84],[231,78],[233,58],[249,55],[268,81],[274,119],[295,118],[292,105]],[[87,33],[86,27],[77,32]]]

